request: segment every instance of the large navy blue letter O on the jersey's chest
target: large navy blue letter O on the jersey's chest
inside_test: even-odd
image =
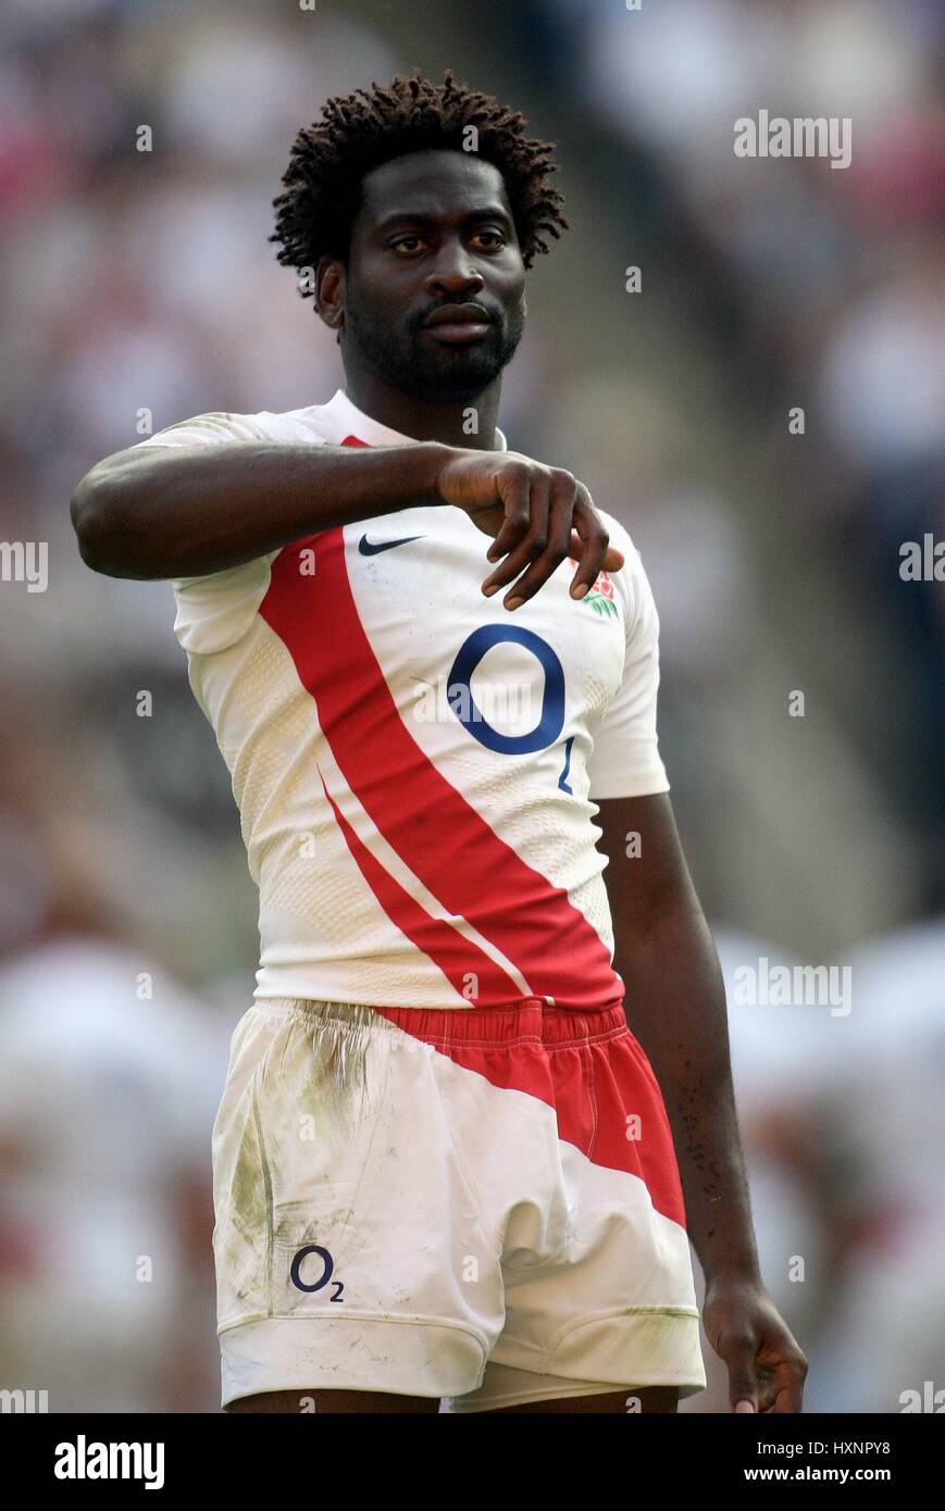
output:
[[[470,688],[470,678],[485,653],[493,645],[505,642],[522,645],[531,651],[544,672],[541,715],[534,730],[528,730],[525,734],[502,734],[496,730],[482,715]],[[484,624],[473,630],[457,651],[457,659],[446,678],[446,697],[457,719],[473,739],[500,756],[528,756],[532,751],[547,749],[564,727],[564,666],[547,641],[543,641],[534,630],[523,630],[519,626]]]

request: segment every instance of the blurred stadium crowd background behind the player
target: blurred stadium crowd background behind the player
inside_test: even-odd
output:
[[[853,972],[847,1015],[730,994],[807,1407],[945,1387],[943,601],[900,576],[945,538],[943,30],[937,0],[8,0],[0,535],[48,542],[48,589],[0,583],[0,1387],[218,1408],[209,1141],[256,895],[171,589],[92,576],[68,500],[142,409],[331,396],[271,201],[330,94],[414,65],[558,142],[573,228],[500,423],[643,553],[729,984]],[[735,157],[762,107],[848,116],[850,168]],[[685,1410],[726,1410],[706,1358]]]

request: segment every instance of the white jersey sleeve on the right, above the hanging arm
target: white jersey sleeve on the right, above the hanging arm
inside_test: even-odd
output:
[[[659,616],[640,552],[623,526],[609,517],[606,523],[611,544],[624,555],[614,583],[624,601],[626,656],[620,688],[594,737],[590,796],[647,798],[670,790],[656,739]]]

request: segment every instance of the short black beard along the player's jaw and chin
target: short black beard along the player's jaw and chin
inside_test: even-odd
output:
[[[485,340],[475,346],[438,348],[438,363],[420,346],[422,325],[398,338],[387,325],[360,314],[351,304],[345,323],[369,366],[401,393],[425,403],[467,403],[484,393],[516,355],[525,311],[519,305],[508,319],[493,320]]]

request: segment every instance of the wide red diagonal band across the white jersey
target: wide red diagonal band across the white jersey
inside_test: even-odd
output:
[[[299,552],[311,547],[316,571],[302,573]],[[569,1008],[620,1000],[597,931],[493,833],[410,734],[357,612],[343,530],[287,545],[259,612],[316,700],[351,792],[445,910],[513,961],[534,994]]]

